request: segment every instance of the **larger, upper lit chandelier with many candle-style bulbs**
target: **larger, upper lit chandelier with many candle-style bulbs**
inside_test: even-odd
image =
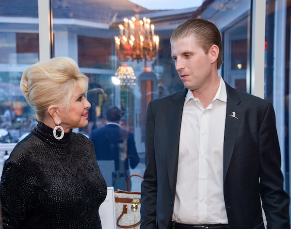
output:
[[[124,18],[124,24],[119,25],[118,36],[114,36],[117,50],[117,57],[120,61],[155,60],[159,50],[160,38],[155,34],[155,26],[150,19],[139,16]]]

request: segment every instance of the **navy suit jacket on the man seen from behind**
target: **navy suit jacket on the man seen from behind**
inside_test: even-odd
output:
[[[125,169],[129,169],[129,164],[131,168],[135,168],[140,158],[137,154],[133,133],[115,124],[108,124],[92,131],[90,140],[94,144],[97,160],[114,160],[115,170],[118,170],[118,143],[123,141],[124,136],[128,137],[127,156],[129,158],[129,160],[126,160]]]

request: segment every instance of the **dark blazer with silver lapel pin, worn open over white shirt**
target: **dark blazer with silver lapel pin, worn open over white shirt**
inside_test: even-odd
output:
[[[264,229],[260,197],[268,229],[289,229],[273,106],[227,84],[226,91],[223,182],[230,229]],[[141,229],[171,228],[186,93],[183,89],[148,104]],[[238,119],[229,116],[233,111]]]

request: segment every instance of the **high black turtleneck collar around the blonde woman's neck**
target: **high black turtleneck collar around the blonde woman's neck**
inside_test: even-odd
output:
[[[64,134],[64,137],[60,140],[55,139],[53,136],[53,129],[47,126],[46,124],[37,121],[37,127],[33,129],[32,133],[37,135],[39,138],[41,138],[46,143],[53,145],[55,147],[66,147],[70,143],[70,136],[72,133],[72,130],[70,132],[67,132]],[[57,131],[59,132],[59,131]]]

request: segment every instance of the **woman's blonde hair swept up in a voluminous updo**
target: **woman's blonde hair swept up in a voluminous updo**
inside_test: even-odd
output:
[[[43,121],[51,105],[65,106],[68,116],[70,99],[79,85],[82,92],[88,89],[88,77],[80,72],[77,63],[69,57],[55,57],[29,66],[22,74],[20,89]]]

